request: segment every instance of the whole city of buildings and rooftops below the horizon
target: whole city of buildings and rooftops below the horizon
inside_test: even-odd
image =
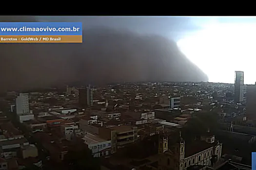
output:
[[[9,91],[1,169],[251,170],[256,85],[243,79]]]

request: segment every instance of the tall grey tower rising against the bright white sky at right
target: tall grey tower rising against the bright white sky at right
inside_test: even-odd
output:
[[[244,97],[244,72],[235,71],[235,102],[243,102]]]

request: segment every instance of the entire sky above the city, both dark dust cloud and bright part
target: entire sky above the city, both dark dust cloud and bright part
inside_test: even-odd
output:
[[[254,84],[255,17],[0,17],[82,22],[82,44],[1,44],[0,89],[117,81]],[[18,83],[17,83],[18,82]]]

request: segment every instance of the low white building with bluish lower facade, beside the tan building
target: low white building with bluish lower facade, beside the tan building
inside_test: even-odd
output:
[[[111,140],[105,140],[90,133],[86,133],[82,139],[92,151],[94,157],[108,156],[111,154]]]

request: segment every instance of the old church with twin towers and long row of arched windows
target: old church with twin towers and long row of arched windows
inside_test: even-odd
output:
[[[168,147],[168,137],[159,136],[158,170],[186,170],[193,165],[213,167],[221,157],[222,143],[215,140],[215,135],[208,130],[200,139],[185,145],[185,140],[179,133],[174,145]]]

